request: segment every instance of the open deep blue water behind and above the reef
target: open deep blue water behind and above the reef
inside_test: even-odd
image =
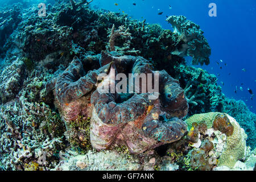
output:
[[[0,5],[14,2],[38,4],[55,1],[1,0]],[[217,5],[216,17],[208,14],[210,3]],[[166,29],[172,29],[171,24],[166,22],[169,15],[184,15],[199,24],[212,48],[212,55],[209,65],[197,67],[216,75],[227,97],[245,101],[249,109],[256,113],[256,97],[251,100],[247,90],[250,88],[256,93],[255,0],[94,0],[91,6],[126,13],[138,20],[146,19],[146,23],[158,23]],[[160,12],[163,14],[159,15]],[[191,57],[186,59],[191,62]]]

